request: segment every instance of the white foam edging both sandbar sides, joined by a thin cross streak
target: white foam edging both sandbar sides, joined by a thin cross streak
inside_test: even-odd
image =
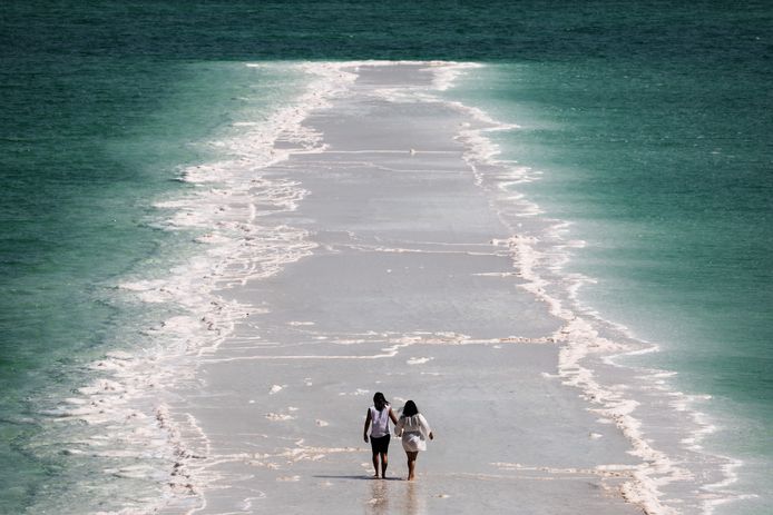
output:
[[[549,311],[565,321],[565,327],[554,337],[537,340],[517,337],[471,340],[463,335],[431,335],[431,337],[407,335],[385,340],[392,346],[372,356],[212,357],[225,338],[233,334],[235,324],[255,309],[237,303],[226,303],[216,295],[216,290],[244,284],[249,278],[268,277],[281,270],[287,263],[309,256],[315,248],[309,241],[309,235],[302,229],[255,224],[256,220],[266,219],[276,210],[296,209],[299,202],[303,201],[307,195],[307,191],[296,181],[264,177],[261,170],[286,160],[292,153],[314,155],[329,151],[322,142],[321,135],[303,127],[302,121],[310,112],[330,106],[331,99],[348,95],[352,90],[360,67],[401,63],[418,66],[421,67],[422,72],[431,73],[431,85],[382,89],[374,91],[373,96],[390,101],[443,102],[470,117],[472,121],[460,127],[457,137],[464,146],[463,158],[476,184],[489,189],[499,200],[500,218],[512,228],[513,236],[495,240],[492,245],[512,257],[519,277],[527,281],[520,287],[546,303]],[[160,432],[165,435],[162,440],[169,463],[180,463],[177,468],[182,469],[183,479],[169,482],[168,494],[198,498],[198,507],[190,511],[195,512],[206,504],[206,498],[200,495],[200,488],[202,485],[207,484],[207,468],[223,457],[205,454],[205,459],[202,462],[202,456],[192,450],[188,440],[182,436],[184,428],[186,433],[196,434],[195,420],[185,417],[174,420],[164,404],[157,405],[151,414],[153,417],[145,418],[145,414],[131,413],[127,408],[133,404],[134,398],[157,397],[164,387],[175,384],[180,378],[189,378],[192,368],[185,367],[190,367],[194,362],[376,359],[394,357],[402,348],[412,345],[490,344],[498,346],[502,343],[560,341],[562,343],[559,354],[560,377],[567,384],[579,388],[590,404],[600,406],[597,409],[604,417],[615,420],[632,442],[634,454],[643,460],[640,466],[634,469],[633,477],[628,478],[623,486],[625,498],[642,506],[652,515],[678,513],[678,509],[662,502],[662,488],[674,482],[684,481],[689,472],[647,440],[640,420],[633,416],[637,409],[636,403],[626,398],[622,389],[604,388],[595,372],[585,366],[591,355],[614,356],[632,349],[600,338],[594,326],[594,323],[599,321],[600,316],[595,318],[596,314],[578,309],[576,299],[581,277],[577,276],[568,280],[568,287],[562,286],[567,278],[559,277],[558,274],[567,263],[567,254],[573,246],[584,244],[566,241],[567,222],[552,220],[549,227],[540,232],[539,238],[521,230],[519,222],[515,225],[511,222],[519,218],[537,219],[539,215],[542,215],[539,206],[529,201],[524,195],[511,190],[517,185],[537,180],[539,171],[509,161],[499,161],[497,159],[499,148],[487,137],[491,132],[517,130],[518,126],[498,122],[480,109],[449,101],[438,95],[448,90],[461,73],[480,65],[437,61],[352,61],[305,63],[296,65],[296,67],[316,78],[309,85],[306,92],[297,102],[277,111],[265,121],[242,121],[239,127],[244,129],[244,132],[238,138],[213,141],[213,149],[228,153],[228,158],[186,168],[182,171],[182,179],[192,182],[196,187],[195,190],[187,197],[158,204],[159,209],[169,209],[173,212],[167,222],[162,225],[163,228],[206,231],[206,235],[200,237],[202,244],[206,245],[206,250],[173,270],[168,281],[137,280],[123,285],[127,291],[134,291],[147,301],[178,303],[189,314],[166,320],[164,325],[149,331],[156,335],[159,341],[164,341],[163,351],[156,354],[151,351],[147,356],[137,356],[134,360],[123,359],[129,363],[119,363],[121,359],[109,358],[108,362],[112,362],[107,363],[104,369],[110,380],[117,385],[109,382],[91,385],[94,389],[81,393],[82,398],[88,403],[84,405],[71,403],[63,408],[62,416],[82,418],[91,424],[109,424],[110,427],[121,426],[126,419],[138,420],[126,426],[130,429],[127,429],[128,438],[134,438],[134,442],[147,442],[148,434],[157,436]],[[278,148],[275,142],[280,138],[295,148]],[[401,152],[410,155],[410,150],[404,149]],[[421,149],[414,149],[414,153],[420,152]],[[330,166],[330,164],[325,165]],[[262,205],[268,205],[271,209],[262,210],[258,208]],[[382,248],[383,251],[417,251]],[[481,252],[481,255],[491,254]],[[361,343],[374,341],[362,340]],[[647,347],[639,347],[642,348]],[[182,365],[173,365],[179,362]],[[82,410],[84,406],[87,406],[86,410]],[[106,406],[110,406],[109,409],[106,409]],[[155,419],[155,423],[148,423],[147,418]],[[135,428],[145,432],[144,434],[139,432],[141,437],[138,438],[131,434]],[[119,438],[121,436],[124,435],[119,435]],[[200,438],[205,436],[200,435]],[[206,442],[200,447],[204,449],[203,453],[207,453]],[[143,450],[146,449],[143,448]],[[138,456],[141,454],[138,453]],[[255,459],[260,458],[255,457]],[[727,476],[731,476],[730,473]],[[717,482],[710,486],[718,489],[726,484]],[[712,499],[713,504],[708,506],[720,502]]]

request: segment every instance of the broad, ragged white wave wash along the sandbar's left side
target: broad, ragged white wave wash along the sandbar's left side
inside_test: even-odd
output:
[[[144,330],[150,344],[107,353],[90,364],[96,378],[43,415],[55,422],[47,439],[71,459],[96,462],[104,474],[88,487],[95,511],[149,513],[202,503],[197,477],[206,437],[192,417],[173,409],[177,388],[190,385],[197,359],[214,353],[238,320],[257,306],[228,300],[223,291],[276,274],[309,255],[306,232],[262,219],[292,211],[307,194],[296,181],[264,170],[293,152],[321,151],[319,135],[302,126],[312,110],[345,90],[354,76],[329,63],[246,63],[301,72],[303,92],[260,121],[237,121],[233,135],[207,146],[221,160],[180,170],[186,192],[158,200],[153,226],[190,235],[198,250],[162,278],[126,278],[117,295],[164,305],[174,315]],[[57,420],[60,427],[56,427]],[[63,423],[72,423],[65,428]],[[84,426],[85,424],[85,426]],[[110,481],[107,481],[107,479]],[[85,499],[72,499],[84,508]],[[67,499],[56,509],[69,509]],[[101,508],[96,508],[100,506]]]

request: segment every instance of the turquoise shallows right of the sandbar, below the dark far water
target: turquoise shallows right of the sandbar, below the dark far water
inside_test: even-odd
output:
[[[623,66],[626,65],[626,66]],[[711,65],[711,66],[708,66]],[[463,95],[521,127],[500,158],[540,172],[518,185],[584,240],[568,273],[579,300],[662,351],[625,363],[678,372],[712,396],[706,447],[746,463],[737,492],[770,496],[773,423],[771,70],[683,66],[500,65]],[[482,92],[482,95],[481,95]],[[769,498],[769,497],[767,497]],[[763,503],[728,513],[762,513]]]

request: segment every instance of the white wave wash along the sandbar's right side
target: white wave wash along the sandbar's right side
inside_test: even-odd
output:
[[[630,442],[630,454],[640,459],[620,494],[650,515],[712,514],[717,506],[748,498],[732,491],[738,459],[713,454],[703,439],[717,430],[699,406],[705,395],[688,395],[669,385],[675,372],[636,367],[626,358],[656,353],[655,344],[638,339],[628,328],[605,319],[580,299],[584,285],[595,279],[566,271],[585,241],[569,237],[571,221],[551,219],[521,185],[539,180],[540,172],[500,160],[500,149],[489,135],[517,131],[462,102],[449,105],[474,120],[462,128],[459,140],[477,184],[489,191],[501,220],[513,235],[497,241],[509,249],[527,289],[562,320],[554,335],[560,345],[558,376],[576,387],[600,422],[615,424]]]

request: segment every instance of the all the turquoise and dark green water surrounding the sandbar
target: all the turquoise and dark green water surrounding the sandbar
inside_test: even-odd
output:
[[[773,462],[771,27],[765,2],[7,2],[0,512],[91,481],[39,445],[42,413],[169,309],[115,286],[193,251],[153,204],[190,188],[176,179],[219,152],[207,141],[302,81],[253,60],[495,63],[454,95],[522,127],[497,142],[542,172],[526,191],[587,242],[569,265],[597,279],[581,300],[661,344],[640,359],[679,372],[681,389],[714,397],[743,437],[712,445],[757,471],[741,476],[755,491]]]

